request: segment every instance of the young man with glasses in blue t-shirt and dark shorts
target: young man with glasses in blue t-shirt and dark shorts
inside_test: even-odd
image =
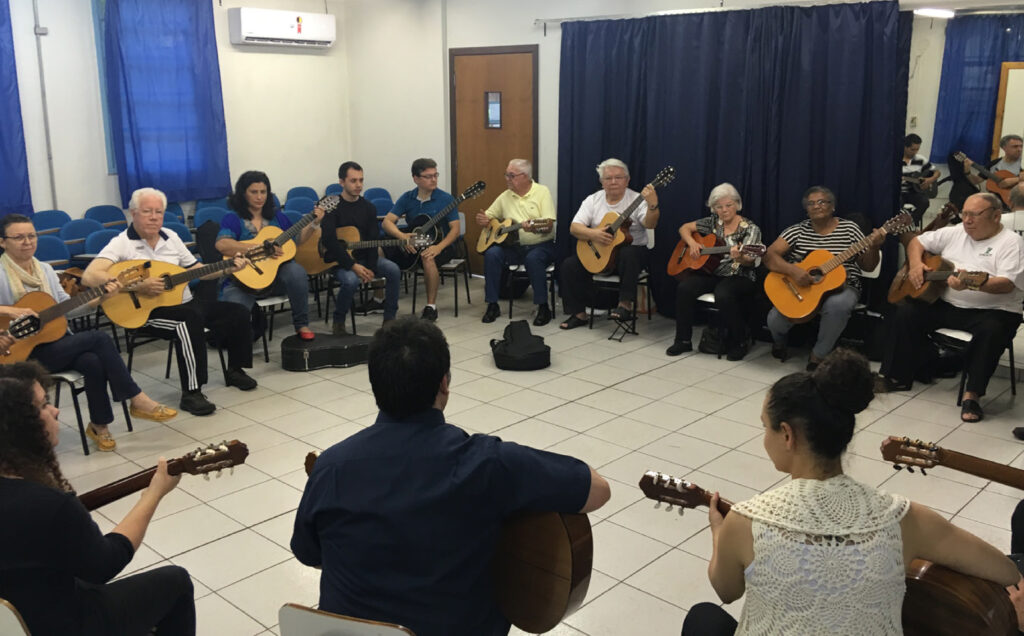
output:
[[[413,162],[413,182],[416,187],[404,193],[394,202],[394,207],[384,217],[381,225],[384,231],[396,239],[409,239],[412,235],[398,229],[397,221],[402,216],[412,229],[428,222],[434,215],[455,202],[452,195],[437,187],[437,162],[433,159],[417,159]],[[436,230],[440,241],[420,252],[420,263],[423,277],[427,282],[427,306],[423,308],[423,317],[428,321],[437,320],[437,288],[440,286],[440,273],[437,268],[452,260],[455,255],[453,243],[459,238],[459,209],[452,206],[447,214],[436,222]],[[410,255],[404,262],[391,252],[388,257],[398,263],[402,269],[408,269],[416,263],[416,248],[406,247]],[[400,254],[400,252],[399,252]]]

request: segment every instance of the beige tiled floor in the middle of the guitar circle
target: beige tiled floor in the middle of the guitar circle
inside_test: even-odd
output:
[[[761,401],[771,382],[801,369],[804,359],[780,364],[763,343],[740,363],[700,353],[670,358],[664,350],[673,324],[655,316],[641,319],[640,335],[622,343],[605,339],[610,331],[605,322],[593,331],[560,332],[555,324],[535,329],[552,346],[551,368],[502,372],[487,343],[500,337],[507,317],[480,324],[480,281],[473,281],[472,291],[474,304],[462,303],[458,319],[452,315],[451,288],[441,291],[437,324],[452,345],[454,364],[449,419],[470,431],[575,455],[612,483],[611,501],[591,515],[595,569],[586,604],[552,633],[678,634],[691,604],[716,600],[706,574],[711,550],[706,512],[655,507],[636,483],[644,470],[657,469],[733,500],[778,483],[782,475],[761,446]],[[517,303],[516,317],[526,317],[527,306]],[[409,307],[403,297],[402,308]],[[371,333],[379,320],[379,314],[358,317],[360,333]],[[324,324],[314,328],[323,330]],[[247,464],[232,474],[181,480],[126,570],[168,562],[187,567],[196,581],[200,634],[275,634],[283,603],[316,601],[318,573],[288,550],[305,481],[302,461],[308,451],[326,449],[374,419],[366,367],[282,371],[280,339],[287,334],[278,329],[269,365],[257,362],[258,390],[225,388],[219,369],[211,368],[206,392],[219,407],[214,415],[181,415],[166,424],[137,421],[134,433],[115,424],[117,453],[83,457],[70,405],[61,414],[68,426],[58,447],[60,463],[80,491],[201,443],[238,438],[249,446]],[[136,356],[136,379],[154,397],[176,404],[176,379],[163,379],[167,349],[150,347]],[[211,363],[217,364],[215,355]],[[848,471],[928,504],[1009,550],[1010,513],[1024,494],[942,468],[928,476],[896,472],[878,451],[885,435],[900,434],[1024,467],[1024,444],[1010,435],[1024,421],[1024,399],[1011,397],[1005,376],[992,381],[984,400],[988,416],[980,424],[961,423],[955,380],[880,396],[859,418]],[[100,527],[112,528],[133,502],[128,498],[98,510]],[[738,613],[740,605],[728,609]]]

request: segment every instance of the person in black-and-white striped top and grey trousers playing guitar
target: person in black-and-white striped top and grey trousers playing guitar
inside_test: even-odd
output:
[[[807,270],[797,266],[814,250],[825,250],[839,254],[864,239],[864,234],[853,221],[835,216],[836,195],[823,185],[814,185],[804,193],[804,210],[807,218],[796,225],[791,225],[770,246],[765,254],[765,265],[772,271],[790,277],[797,285],[808,287],[813,280]],[[885,235],[876,230],[872,232],[868,248],[855,259],[843,263],[846,268],[846,284],[836,292],[826,296],[820,304],[821,324],[818,326],[818,337],[811,349],[807,364],[812,371],[821,359],[836,346],[850,313],[860,297],[860,272],[870,270],[879,264],[882,257],[879,248],[885,240]],[[794,322],[783,315],[778,307],[772,307],[768,312],[768,330],[771,332],[774,344],[771,354],[781,361],[788,357],[786,335],[793,329]]]

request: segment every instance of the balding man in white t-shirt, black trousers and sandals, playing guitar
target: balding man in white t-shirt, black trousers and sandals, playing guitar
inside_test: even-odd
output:
[[[984,417],[979,398],[985,394],[1004,349],[1017,333],[1024,302],[1024,239],[1002,226],[1001,212],[998,197],[979,193],[964,202],[963,223],[926,231],[910,241],[906,249],[908,277],[918,288],[925,281],[925,251],[953,263],[957,272],[982,271],[988,275],[968,287],[954,273],[946,280],[946,289],[934,304],[907,299],[896,305],[886,329],[877,392],[910,388],[924,362],[922,351],[928,334],[940,327],[961,329],[973,335],[966,361],[967,386],[961,419],[977,422]]]

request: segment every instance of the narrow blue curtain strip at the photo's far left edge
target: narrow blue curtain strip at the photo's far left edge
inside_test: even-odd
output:
[[[14,42],[10,31],[10,6],[0,0],[0,217],[32,214],[29,161],[25,156],[22,100],[14,68]]]

